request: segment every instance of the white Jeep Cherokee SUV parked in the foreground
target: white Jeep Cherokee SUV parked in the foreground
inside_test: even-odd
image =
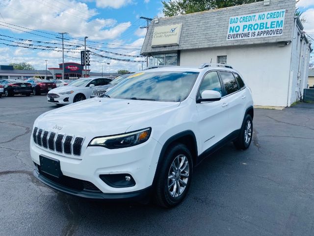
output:
[[[46,112],[33,126],[34,176],[94,199],[185,197],[193,168],[233,141],[250,146],[253,101],[231,66],[163,67],[133,74],[104,97]]]

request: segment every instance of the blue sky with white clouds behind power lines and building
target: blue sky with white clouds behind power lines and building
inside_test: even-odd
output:
[[[314,38],[314,0],[300,0],[297,6],[304,12],[305,31]],[[58,32],[69,33],[65,47],[72,53],[65,52],[65,61],[80,62],[76,59],[80,54],[74,52],[83,50],[84,36],[88,36],[87,48],[95,53],[117,59],[143,60],[104,51],[139,55],[146,32],[139,28],[146,25],[139,17],[162,16],[162,4],[161,0],[0,0],[0,13],[0,64],[26,61],[36,69],[45,69],[45,59],[48,67],[57,67],[62,62],[61,41],[56,38]],[[21,46],[39,49],[48,46],[51,50]],[[102,64],[106,72],[136,71],[141,67],[141,62],[96,56],[91,59],[94,61],[90,69],[94,72],[100,72]]]

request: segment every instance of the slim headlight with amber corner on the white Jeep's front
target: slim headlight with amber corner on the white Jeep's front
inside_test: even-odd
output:
[[[146,142],[151,135],[152,128],[132,131],[125,134],[96,137],[88,146],[101,146],[109,149],[127,148]]]

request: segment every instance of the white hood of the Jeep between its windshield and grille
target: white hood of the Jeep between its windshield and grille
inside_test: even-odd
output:
[[[179,105],[180,102],[97,97],[46,112],[36,119],[34,126],[86,138],[89,135],[96,137],[121,134],[132,125],[149,127],[149,119],[167,113]],[[62,129],[52,129],[55,125],[62,126]]]

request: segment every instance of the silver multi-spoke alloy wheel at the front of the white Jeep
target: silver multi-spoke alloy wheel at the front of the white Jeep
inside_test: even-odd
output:
[[[174,198],[181,196],[189,177],[189,162],[185,155],[180,154],[173,160],[168,173],[168,191]]]

